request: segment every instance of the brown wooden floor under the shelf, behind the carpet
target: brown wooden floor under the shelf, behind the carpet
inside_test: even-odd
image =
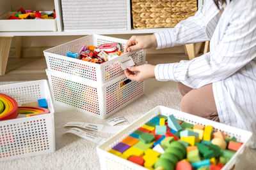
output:
[[[188,60],[188,57],[184,53],[161,53],[147,54],[146,60],[149,64],[162,64]],[[8,59],[6,74],[0,76],[0,81],[47,79],[45,69],[47,69],[47,66],[44,57],[10,58]]]

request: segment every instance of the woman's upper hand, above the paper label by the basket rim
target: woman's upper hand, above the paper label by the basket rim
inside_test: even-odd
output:
[[[124,52],[132,52],[134,50],[141,50],[146,48],[157,47],[156,36],[132,36],[125,45]]]

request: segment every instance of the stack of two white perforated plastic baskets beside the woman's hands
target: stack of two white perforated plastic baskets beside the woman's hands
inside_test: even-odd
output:
[[[124,50],[126,42],[93,34],[45,50],[46,73],[54,101],[94,117],[107,118],[140,97],[144,93],[144,83],[127,81],[120,61],[132,57],[136,64],[143,64],[145,50],[125,53],[103,64],[66,56],[68,51],[78,52],[83,45],[120,43]]]

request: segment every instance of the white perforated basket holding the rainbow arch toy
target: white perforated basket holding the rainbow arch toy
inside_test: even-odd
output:
[[[46,99],[51,113],[0,121],[0,161],[55,151],[54,108],[47,80],[0,85],[20,106]]]

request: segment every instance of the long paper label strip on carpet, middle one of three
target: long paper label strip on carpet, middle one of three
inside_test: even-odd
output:
[[[86,122],[67,122],[67,124],[65,124],[64,126],[65,127],[75,126],[75,127],[88,129],[90,131],[106,132],[106,133],[116,133],[116,132],[119,132],[121,129],[124,129],[124,127],[126,127],[125,125],[113,127],[109,125],[89,124]]]

